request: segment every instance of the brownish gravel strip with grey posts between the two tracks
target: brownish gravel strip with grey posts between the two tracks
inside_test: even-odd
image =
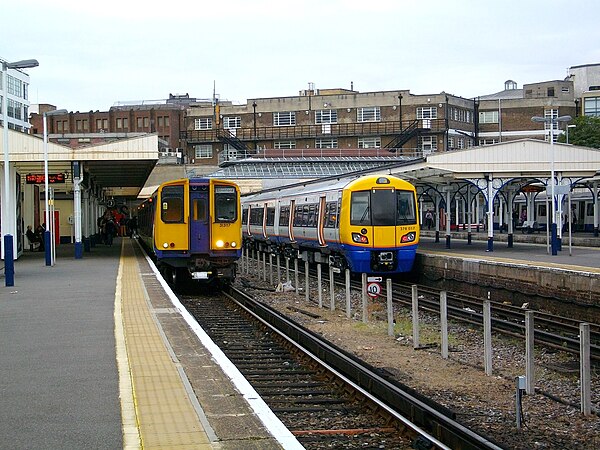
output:
[[[300,282],[304,286],[303,278]],[[369,364],[385,369],[456,412],[459,421],[511,449],[598,449],[600,417],[579,411],[579,362],[564,352],[536,347],[536,394],[524,396],[523,427],[516,428],[515,377],[525,374],[522,342],[493,335],[493,375],[483,371],[483,332],[450,322],[450,356],[442,359],[437,317],[420,313],[421,345],[414,350],[410,311],[396,309],[394,336],[387,335],[385,299],[369,301],[370,320],[362,322],[362,300],[352,293],[352,318],[345,315],[345,292],[337,290],[335,311],[329,309],[329,288],[323,285],[323,308],[304,292],[271,292],[275,288],[252,275],[242,275],[236,287],[293,318]],[[317,314],[313,318],[304,312]],[[542,392],[543,393],[542,393]],[[550,394],[545,395],[545,394]],[[564,404],[551,397],[560,398]],[[592,374],[592,407],[600,409],[600,373]]]

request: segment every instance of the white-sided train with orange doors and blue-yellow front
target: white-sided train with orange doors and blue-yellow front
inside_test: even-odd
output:
[[[242,197],[244,246],[335,272],[410,272],[419,244],[415,187],[391,175],[297,183]]]

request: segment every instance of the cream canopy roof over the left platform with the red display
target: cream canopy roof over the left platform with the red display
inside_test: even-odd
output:
[[[1,145],[0,149],[3,153]],[[43,139],[9,130],[9,149],[9,161],[22,177],[44,174]],[[60,188],[71,190],[72,163],[79,161],[90,181],[107,195],[136,197],[158,157],[158,136],[154,134],[75,149],[49,142],[48,173],[65,175]]]

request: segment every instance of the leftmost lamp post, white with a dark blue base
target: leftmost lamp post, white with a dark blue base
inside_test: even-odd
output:
[[[4,147],[4,190],[2,195],[2,210],[4,211],[4,222],[2,223],[2,234],[4,235],[4,277],[6,286],[15,285],[15,258],[13,240],[13,218],[16,208],[12,205],[10,195],[10,167],[8,157],[8,69],[28,69],[37,67],[36,59],[24,59],[9,63],[2,61],[2,122],[3,122],[3,147]]]

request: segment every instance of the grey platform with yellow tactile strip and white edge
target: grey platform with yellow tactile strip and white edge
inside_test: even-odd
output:
[[[156,275],[128,238],[2,271],[0,448],[301,448]]]

